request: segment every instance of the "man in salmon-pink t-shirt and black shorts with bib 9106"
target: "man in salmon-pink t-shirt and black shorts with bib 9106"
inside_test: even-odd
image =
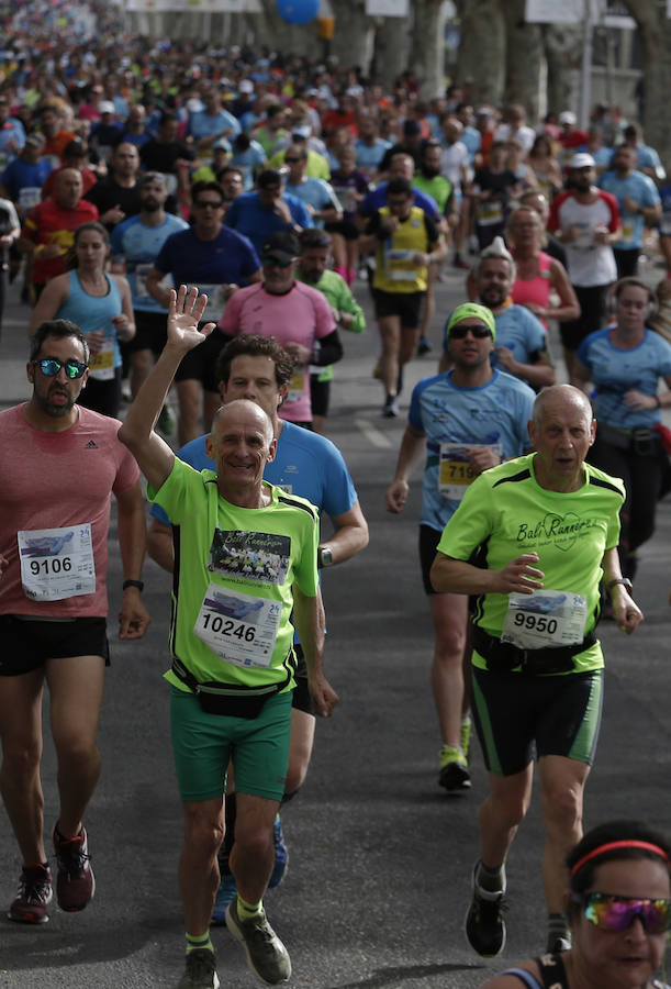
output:
[[[0,413],[0,791],[23,857],[9,910],[20,923],[45,923],[53,897],[40,779],[45,682],[58,760],[58,903],[83,910],[96,889],[81,819],[100,776],[112,492],[124,576],[119,637],[139,638],[149,624],[139,470],[116,438],[121,423],[76,404],[88,362],[75,323],[42,323],[27,364],[32,398]]]

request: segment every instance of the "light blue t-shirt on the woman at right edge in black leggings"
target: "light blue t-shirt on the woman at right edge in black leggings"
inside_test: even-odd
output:
[[[656,396],[660,378],[671,375],[671,345],[658,333],[646,330],[642,342],[633,351],[623,351],[611,342],[611,330],[596,330],[585,336],[577,351],[578,359],[592,373],[596,388],[596,422],[622,430],[651,429],[661,422],[659,409],[635,411],[624,402],[630,389]],[[599,429],[599,425],[597,425]]]

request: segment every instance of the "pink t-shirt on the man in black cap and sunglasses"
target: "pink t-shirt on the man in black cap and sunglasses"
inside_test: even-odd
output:
[[[228,336],[275,336],[280,346],[293,341],[312,351],[315,340],[333,333],[335,323],[331,305],[317,289],[295,281],[290,291],[273,296],[257,282],[233,293],[219,327]],[[309,365],[297,367],[280,416],[289,422],[312,422]]]

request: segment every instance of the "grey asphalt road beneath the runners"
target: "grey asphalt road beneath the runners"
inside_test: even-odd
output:
[[[358,296],[369,310],[365,287]],[[461,274],[438,285],[433,337],[463,301]],[[27,397],[29,310],[12,301],[0,341],[0,405]],[[374,324],[347,335],[336,368],[328,435],[340,446],[370,524],[370,545],[324,575],[327,674],[340,693],[331,721],[317,725],[310,775],[287,807],[290,866],[270,891],[270,921],[284,940],[297,989],[470,989],[545,942],[540,882],[543,829],[537,801],[508,863],[508,942],[495,963],[474,956],[462,934],[477,856],[477,808],[485,792],[479,752],[469,794],[437,785],[439,737],[429,693],[432,627],[416,552],[421,484],[403,516],[385,513],[404,419],[380,418],[381,387],[371,377]],[[403,395],[435,371],[434,355],[411,366]],[[35,464],[40,470],[40,464]],[[1,473],[0,473],[1,482]],[[54,479],[57,497],[57,478]],[[326,523],[327,524],[327,523]],[[607,675],[596,765],[588,784],[586,823],[638,816],[669,821],[671,729],[667,674],[671,513],[658,511],[656,537],[641,553],[636,596],[646,623],[633,638],[602,627]],[[111,608],[121,597],[113,533]],[[181,812],[168,732],[169,579],[150,560],[145,598],[152,627],[141,643],[115,641],[100,747],[103,775],[87,814],[97,878],[81,914],[59,912],[34,929],[4,919],[20,856],[0,809],[0,986],[12,989],[170,987],[183,965],[183,924],[176,879]],[[48,703],[45,702],[45,725]],[[46,827],[57,814],[54,753],[45,741]],[[225,930],[213,942],[222,987],[251,986],[244,956]]]

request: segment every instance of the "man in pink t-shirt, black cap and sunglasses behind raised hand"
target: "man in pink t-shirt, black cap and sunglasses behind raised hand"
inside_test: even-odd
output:
[[[238,289],[228,299],[219,327],[228,338],[241,333],[273,336],[291,354],[295,366],[279,414],[312,429],[310,366],[336,364],[343,346],[326,298],[295,280],[299,254],[292,233],[270,234],[261,248],[262,281]]]

